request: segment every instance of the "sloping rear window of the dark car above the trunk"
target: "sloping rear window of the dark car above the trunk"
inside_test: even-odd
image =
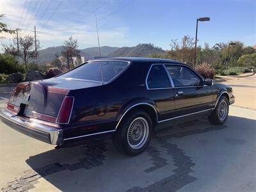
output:
[[[92,61],[59,77],[102,82],[100,65],[102,66],[103,82],[107,83],[120,74],[127,67],[128,63],[125,61]]]

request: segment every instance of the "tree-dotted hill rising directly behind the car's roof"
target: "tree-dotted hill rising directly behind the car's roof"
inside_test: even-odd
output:
[[[121,47],[116,51],[111,52],[109,57],[142,57],[147,54],[152,54],[154,52],[165,52],[163,49],[154,47],[152,44],[139,44],[135,47]]]

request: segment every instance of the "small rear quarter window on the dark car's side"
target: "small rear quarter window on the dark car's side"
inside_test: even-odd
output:
[[[163,65],[153,65],[147,78],[148,88],[170,88],[170,79]]]

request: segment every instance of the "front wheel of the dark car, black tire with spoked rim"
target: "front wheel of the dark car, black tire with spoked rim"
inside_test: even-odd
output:
[[[220,110],[222,110],[223,105],[226,108],[224,109],[226,111],[223,112],[225,113],[225,115],[221,115],[220,113]],[[216,105],[216,108],[214,109],[214,111],[212,111],[211,115],[208,116],[209,122],[214,125],[224,124],[228,118],[228,111],[229,111],[228,99],[225,96],[221,96],[218,104]]]

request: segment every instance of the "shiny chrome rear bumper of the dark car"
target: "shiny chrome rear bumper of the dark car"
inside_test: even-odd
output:
[[[38,124],[37,122],[26,121],[17,115],[12,115],[12,113],[8,112],[6,109],[0,109],[0,118],[9,124],[15,125],[20,131],[33,132],[33,134],[40,136],[42,136],[42,134],[49,134],[49,143],[52,145],[60,145],[63,142],[62,129]]]

